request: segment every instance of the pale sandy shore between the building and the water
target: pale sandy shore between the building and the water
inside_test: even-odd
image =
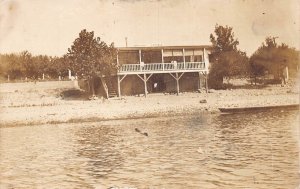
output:
[[[211,93],[149,94],[109,100],[66,100],[59,94],[72,81],[0,84],[0,126],[100,121],[167,116],[192,112],[219,113],[221,107],[273,106],[299,103],[299,88],[211,90]],[[206,100],[206,103],[201,103]],[[201,101],[201,102],[200,102]]]

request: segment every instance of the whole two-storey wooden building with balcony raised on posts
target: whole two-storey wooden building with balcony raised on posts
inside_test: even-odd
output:
[[[207,89],[211,46],[118,48],[117,94]]]

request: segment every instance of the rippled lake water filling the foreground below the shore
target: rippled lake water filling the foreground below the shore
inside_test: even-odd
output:
[[[1,128],[0,188],[294,189],[299,130],[297,111]]]

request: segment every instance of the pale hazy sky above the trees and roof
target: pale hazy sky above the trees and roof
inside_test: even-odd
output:
[[[115,46],[207,45],[216,23],[251,55],[266,36],[300,47],[298,0],[0,0],[0,53],[63,55],[82,29]]]

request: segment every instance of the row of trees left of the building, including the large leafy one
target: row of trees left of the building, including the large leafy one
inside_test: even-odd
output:
[[[117,50],[94,32],[82,30],[68,52],[61,57],[34,56],[28,51],[0,54],[0,78],[4,80],[51,80],[67,78],[68,71],[79,78],[116,72]],[[74,76],[74,75],[73,75]]]

